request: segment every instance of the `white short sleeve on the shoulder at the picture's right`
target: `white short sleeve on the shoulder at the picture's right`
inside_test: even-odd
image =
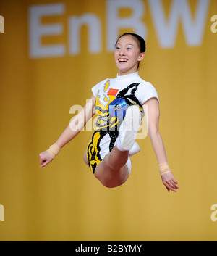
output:
[[[156,98],[158,99],[158,102],[160,102],[156,88],[149,82],[140,83],[140,86],[138,86],[138,89],[135,92],[135,96],[139,99],[140,104],[144,104],[151,98]]]

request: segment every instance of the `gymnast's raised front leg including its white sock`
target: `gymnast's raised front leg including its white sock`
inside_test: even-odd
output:
[[[117,145],[106,154],[103,161],[95,168],[95,178],[108,188],[114,188],[122,185],[129,177],[127,169],[127,160],[129,157],[129,150],[135,142],[135,136],[140,128],[141,112],[137,106],[130,106],[127,109],[125,119],[120,126],[119,137],[117,138]]]

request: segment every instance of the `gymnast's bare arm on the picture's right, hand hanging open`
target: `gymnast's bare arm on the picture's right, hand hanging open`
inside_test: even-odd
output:
[[[179,186],[177,185],[178,182],[174,178],[169,168],[166,157],[166,151],[163,145],[163,140],[158,130],[158,123],[160,117],[158,99],[148,99],[148,101],[145,102],[145,104],[143,104],[143,107],[146,110],[145,120],[148,126],[148,136],[150,137],[153,150],[158,160],[158,167],[161,174],[163,185],[166,186],[166,189],[168,191],[171,190],[176,192],[176,189],[179,189]]]

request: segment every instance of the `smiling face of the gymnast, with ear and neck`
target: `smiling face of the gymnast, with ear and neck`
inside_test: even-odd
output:
[[[140,52],[137,39],[126,35],[119,38],[114,51],[114,59],[119,70],[118,75],[129,75],[137,72],[138,64],[144,59],[145,53]]]

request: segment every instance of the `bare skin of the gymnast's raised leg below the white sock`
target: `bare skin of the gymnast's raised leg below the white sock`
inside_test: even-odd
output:
[[[119,151],[114,149],[104,157],[103,161],[95,168],[95,178],[108,188],[122,185],[129,177],[126,166],[129,151]]]

